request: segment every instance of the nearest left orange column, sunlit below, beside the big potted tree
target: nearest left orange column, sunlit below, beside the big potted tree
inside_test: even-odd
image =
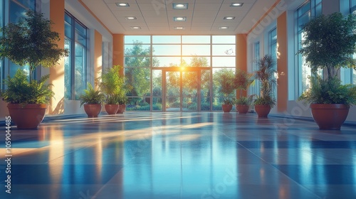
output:
[[[61,38],[58,47],[64,48],[64,4],[65,0],[50,1],[50,19],[53,21],[52,30],[59,33]],[[62,114],[64,112],[64,58],[58,61],[56,67],[49,70],[50,80],[55,96],[48,106],[49,114]]]

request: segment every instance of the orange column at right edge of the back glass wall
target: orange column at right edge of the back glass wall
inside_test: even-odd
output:
[[[247,72],[247,34],[236,35],[236,70],[244,70]],[[242,92],[246,96],[246,91]],[[239,91],[236,92],[236,97],[239,97]]]

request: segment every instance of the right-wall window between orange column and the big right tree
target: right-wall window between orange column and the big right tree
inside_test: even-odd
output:
[[[295,17],[296,17],[296,38],[297,38],[297,48],[296,51],[300,50],[302,48],[301,42],[303,41],[303,38],[305,36],[305,33],[303,31],[303,26],[305,23],[310,21],[310,18],[318,16],[321,14],[321,1],[322,0],[310,0],[305,2],[302,6],[300,6],[296,11],[295,11]],[[297,65],[297,71],[296,71],[296,77],[295,79],[297,80],[297,90],[298,90],[298,96],[301,95],[305,90],[307,90],[310,87],[310,82],[308,77],[311,75],[311,70],[309,65],[305,62],[305,58],[298,54],[297,55],[297,60],[296,60],[296,65]]]

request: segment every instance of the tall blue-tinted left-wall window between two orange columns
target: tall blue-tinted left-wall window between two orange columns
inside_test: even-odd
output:
[[[65,99],[78,99],[87,82],[87,28],[70,14],[65,14]]]

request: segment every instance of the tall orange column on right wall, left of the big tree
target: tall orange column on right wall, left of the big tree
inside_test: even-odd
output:
[[[284,112],[288,102],[288,45],[287,45],[287,14],[284,12],[277,18],[277,110]]]

